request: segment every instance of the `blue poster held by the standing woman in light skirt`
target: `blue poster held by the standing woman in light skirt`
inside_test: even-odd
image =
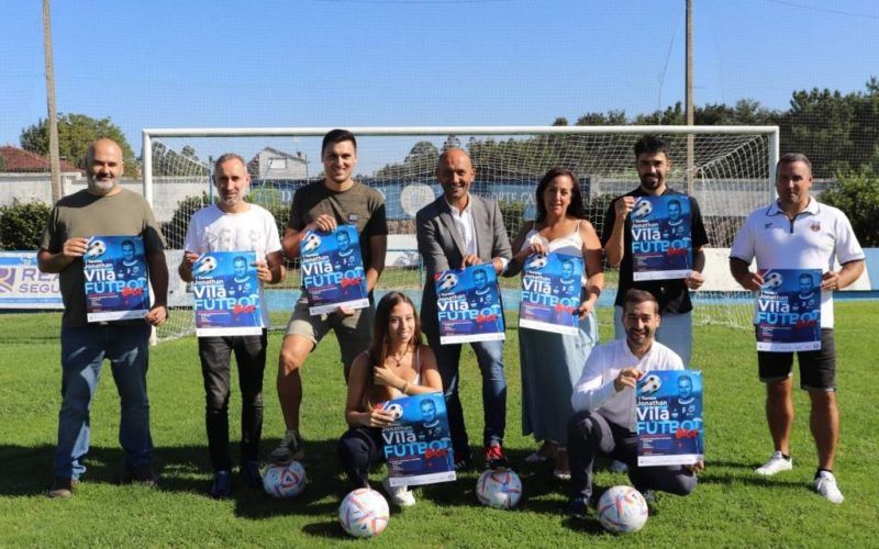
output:
[[[583,258],[549,253],[530,256],[522,269],[519,326],[577,334]]]

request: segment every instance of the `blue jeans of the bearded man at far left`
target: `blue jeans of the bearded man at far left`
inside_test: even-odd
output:
[[[151,461],[153,439],[146,395],[149,329],[145,322],[62,327],[63,400],[55,477],[76,480],[86,472],[82,459],[89,451],[89,410],[104,359],[110,361],[122,406],[119,444],[125,451],[124,464],[131,468]]]

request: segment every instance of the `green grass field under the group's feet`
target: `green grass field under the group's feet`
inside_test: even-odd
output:
[[[837,303],[838,396],[843,422],[836,466],[846,496],[833,505],[811,491],[814,446],[808,400],[797,394],[793,471],[771,479],[753,469],[771,451],[763,416],[763,386],[756,379],[753,336],[745,330],[700,327],[694,366],[704,372],[708,469],[686,498],[665,495],[639,534],[615,537],[597,522],[565,518],[564,485],[550,467],[531,468],[524,457],[535,446],[523,437],[516,332],[508,332],[510,385],[507,447],[524,482],[516,511],[480,506],[474,495],[478,472],[455,483],[416,492],[415,507],[393,509],[374,545],[393,547],[867,547],[876,546],[879,517],[879,434],[874,388],[875,303]],[[602,311],[602,316],[610,314]],[[508,317],[508,321],[512,318]],[[355,544],[336,525],[335,512],[348,486],[338,473],[336,439],[344,432],[344,385],[335,339],[330,337],[304,370],[303,434],[310,483],[297,500],[277,501],[236,484],[235,497],[213,501],[203,425],[203,395],[192,337],[154,348],[149,371],[153,437],[160,489],[116,484],[119,399],[109,376],[92,407],[92,449],[76,495],[54,501],[53,449],[60,401],[57,314],[0,315],[0,546],[296,546]],[[513,324],[511,322],[511,324]],[[608,323],[602,324],[602,337]],[[280,334],[270,336],[276,357]],[[870,350],[872,349],[872,350]],[[266,373],[264,452],[277,442],[282,423],[274,389],[274,360]],[[471,442],[481,433],[479,377],[469,348],[463,359],[465,411]],[[234,393],[233,393],[234,394]],[[238,401],[233,396],[233,439]],[[233,449],[234,450],[234,449]],[[236,457],[236,451],[233,451]],[[376,478],[382,472],[376,472]],[[237,480],[237,479],[236,479]],[[625,483],[601,472],[599,486]]]

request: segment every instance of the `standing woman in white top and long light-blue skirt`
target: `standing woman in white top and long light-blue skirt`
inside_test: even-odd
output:
[[[531,255],[549,251],[579,255],[586,272],[580,278],[580,306],[576,335],[553,334],[530,328],[519,330],[522,369],[522,430],[534,434],[543,446],[525,461],[539,463],[555,457],[554,475],[570,478],[567,424],[574,411],[570,395],[580,379],[589,352],[598,344],[596,302],[604,283],[602,249],[596,229],[585,219],[580,182],[572,171],[553,168],[541,180],[536,192],[537,215],[525,223],[513,242],[519,250],[505,276],[522,270]]]

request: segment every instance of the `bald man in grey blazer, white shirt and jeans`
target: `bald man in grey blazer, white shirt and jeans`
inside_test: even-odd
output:
[[[439,155],[435,176],[443,187],[443,195],[421,209],[415,216],[419,251],[427,270],[421,300],[421,322],[443,378],[455,467],[466,469],[471,464],[472,455],[458,396],[461,346],[439,345],[434,280],[437,273],[445,270],[479,264],[491,264],[500,274],[512,254],[497,201],[469,192],[476,179],[469,155],[460,148],[446,149]],[[503,341],[476,341],[470,347],[482,373],[486,462],[492,469],[508,467],[502,449],[507,425]]]

